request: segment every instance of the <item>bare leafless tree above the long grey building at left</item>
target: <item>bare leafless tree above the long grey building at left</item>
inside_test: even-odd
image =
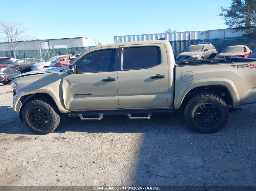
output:
[[[28,28],[22,23],[0,21],[0,40],[3,42],[16,42],[28,40]]]

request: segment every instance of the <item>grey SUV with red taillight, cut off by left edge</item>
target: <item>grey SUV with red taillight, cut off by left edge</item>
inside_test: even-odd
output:
[[[17,74],[20,74],[18,64],[10,58],[0,57],[0,83],[11,84],[12,79]]]

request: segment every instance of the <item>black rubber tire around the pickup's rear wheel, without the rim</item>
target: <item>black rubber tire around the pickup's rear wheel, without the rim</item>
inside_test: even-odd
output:
[[[216,107],[216,109],[220,111],[220,118],[218,122],[216,122],[216,124],[213,126],[204,127],[196,121],[195,112],[202,104],[212,104]],[[188,101],[184,114],[188,126],[192,129],[200,133],[214,133],[221,130],[226,125],[228,121],[229,110],[228,105],[218,95],[212,93],[202,93],[195,95]]]

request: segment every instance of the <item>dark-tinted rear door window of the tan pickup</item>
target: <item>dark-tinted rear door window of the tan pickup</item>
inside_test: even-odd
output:
[[[124,48],[123,70],[151,68],[161,64],[161,52],[158,46]]]

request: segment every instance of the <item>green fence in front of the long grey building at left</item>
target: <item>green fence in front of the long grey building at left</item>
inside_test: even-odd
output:
[[[95,46],[86,46],[86,47],[71,47],[71,48],[56,48],[56,49],[42,49],[40,50],[9,50],[9,51],[0,51],[0,57],[8,58],[36,58],[47,60],[53,56],[57,55],[67,55],[71,53],[84,52]],[[41,53],[40,53],[41,52]]]

